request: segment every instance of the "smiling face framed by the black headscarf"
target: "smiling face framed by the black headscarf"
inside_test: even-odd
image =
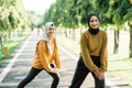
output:
[[[89,25],[91,29],[97,29],[99,26],[99,20],[96,15],[90,18]]]

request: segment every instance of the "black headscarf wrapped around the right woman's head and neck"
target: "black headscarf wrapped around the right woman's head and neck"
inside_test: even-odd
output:
[[[92,29],[91,26],[90,26],[90,18],[92,16],[92,15],[95,15],[95,16],[97,16],[97,19],[98,19],[98,21],[99,21],[99,16],[96,14],[96,13],[91,13],[91,14],[89,14],[88,15],[88,26],[89,26],[89,32],[91,33],[91,34],[94,34],[94,35],[96,35],[96,34],[98,34],[98,32],[99,32],[99,26],[97,28],[97,29]]]

